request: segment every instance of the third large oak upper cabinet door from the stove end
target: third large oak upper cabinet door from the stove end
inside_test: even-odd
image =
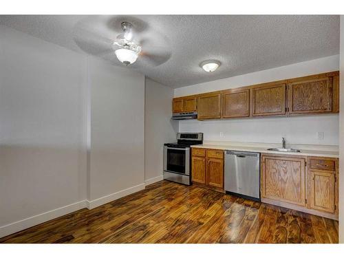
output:
[[[286,83],[252,88],[252,116],[286,114]]]

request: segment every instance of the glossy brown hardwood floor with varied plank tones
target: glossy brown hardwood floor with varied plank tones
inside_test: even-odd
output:
[[[0,243],[338,243],[338,222],[161,181]]]

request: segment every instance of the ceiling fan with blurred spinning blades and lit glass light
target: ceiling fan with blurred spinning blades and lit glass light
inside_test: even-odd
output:
[[[117,65],[155,67],[171,57],[170,42],[148,23],[136,17],[87,17],[76,24],[74,41],[84,52]]]

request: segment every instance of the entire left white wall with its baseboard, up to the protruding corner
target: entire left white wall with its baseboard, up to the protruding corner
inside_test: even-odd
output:
[[[0,26],[0,237],[144,188],[144,76]]]

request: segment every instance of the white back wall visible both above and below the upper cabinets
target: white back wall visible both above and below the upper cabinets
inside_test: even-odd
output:
[[[181,87],[175,89],[174,96],[186,96],[284,78],[331,72],[338,70],[338,65],[338,56],[328,56],[261,72]],[[338,115],[206,121],[184,120],[179,123],[179,131],[203,132],[204,140],[278,143],[281,142],[281,137],[286,137],[287,142],[291,144],[338,145]],[[224,137],[220,137],[220,132],[224,133]],[[317,132],[324,132],[323,140],[318,140]]]

